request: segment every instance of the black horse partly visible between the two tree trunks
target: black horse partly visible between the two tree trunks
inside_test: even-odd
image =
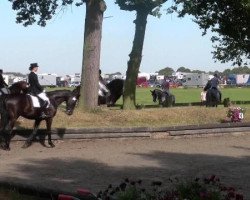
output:
[[[98,104],[107,104],[107,106],[114,106],[116,101],[123,95],[124,80],[114,79],[110,81],[106,88],[109,90],[107,96],[98,96]]]

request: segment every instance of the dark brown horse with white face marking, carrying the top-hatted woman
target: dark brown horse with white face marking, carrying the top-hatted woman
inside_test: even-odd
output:
[[[34,129],[31,135],[26,140],[23,148],[27,148],[32,144],[33,139],[36,136],[38,127],[42,120],[46,121],[46,128],[48,134],[48,144],[51,147],[55,147],[51,141],[51,126],[53,118],[57,113],[57,108],[62,102],[66,102],[66,114],[72,115],[77,101],[80,97],[80,86],[71,90],[55,90],[47,92],[50,100],[50,106],[48,109],[49,116],[41,118],[41,108],[33,106],[31,96],[27,94],[8,94],[3,95],[0,98],[0,112],[1,112],[1,132],[3,136],[4,150],[10,150],[10,140],[14,137],[13,127],[18,119],[22,116],[24,118],[35,120]]]

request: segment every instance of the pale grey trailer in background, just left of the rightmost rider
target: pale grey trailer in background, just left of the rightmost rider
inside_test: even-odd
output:
[[[208,80],[209,74],[189,73],[183,75],[182,85],[186,87],[204,87]]]

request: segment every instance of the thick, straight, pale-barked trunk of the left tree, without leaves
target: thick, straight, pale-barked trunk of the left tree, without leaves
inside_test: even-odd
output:
[[[81,98],[79,106],[83,110],[94,109],[98,103],[98,82],[100,49],[102,37],[103,0],[86,1],[85,31],[83,43]]]

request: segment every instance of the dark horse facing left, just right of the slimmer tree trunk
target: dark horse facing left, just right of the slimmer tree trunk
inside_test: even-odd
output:
[[[159,105],[164,107],[170,107],[175,104],[175,96],[171,93],[164,94],[164,92],[160,89],[150,90],[151,95],[153,97],[153,102],[159,101]],[[165,95],[165,98],[163,98]]]

